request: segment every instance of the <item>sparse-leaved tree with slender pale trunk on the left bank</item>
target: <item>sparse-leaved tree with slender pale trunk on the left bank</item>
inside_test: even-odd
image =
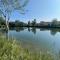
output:
[[[28,0],[0,0],[0,14],[2,14],[6,20],[7,29],[9,29],[8,22],[11,13],[17,11],[23,14],[27,2]]]

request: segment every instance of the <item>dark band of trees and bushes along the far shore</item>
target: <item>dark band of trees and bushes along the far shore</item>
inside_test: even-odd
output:
[[[27,21],[27,23],[22,22],[20,20],[9,21],[8,26],[10,27],[36,27],[36,28],[60,28],[60,21],[56,18],[51,22],[40,21],[37,23],[37,20]],[[0,28],[6,27],[6,23],[3,17],[0,17]]]

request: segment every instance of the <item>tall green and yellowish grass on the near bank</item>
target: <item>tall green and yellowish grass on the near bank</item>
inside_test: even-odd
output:
[[[0,60],[54,60],[54,56],[50,53],[33,53],[16,40],[0,38]]]

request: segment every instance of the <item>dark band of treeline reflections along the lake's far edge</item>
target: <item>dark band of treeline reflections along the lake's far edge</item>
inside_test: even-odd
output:
[[[30,27],[14,27],[14,28],[10,28],[10,30],[15,30],[16,32],[20,32],[20,31],[24,31],[25,29],[28,29],[28,31],[30,32],[30,31],[32,31],[34,34],[36,34],[36,29],[37,28],[35,28],[35,27],[32,27],[32,28],[30,28]],[[56,35],[56,33],[57,32],[60,32],[60,29],[59,28],[38,28],[38,29],[40,29],[40,31],[50,31],[50,34],[51,35]]]

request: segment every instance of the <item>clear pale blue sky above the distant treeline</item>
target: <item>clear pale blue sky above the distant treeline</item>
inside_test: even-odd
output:
[[[25,7],[24,15],[14,12],[11,14],[12,21],[52,21],[54,18],[60,20],[60,0],[29,0]]]

